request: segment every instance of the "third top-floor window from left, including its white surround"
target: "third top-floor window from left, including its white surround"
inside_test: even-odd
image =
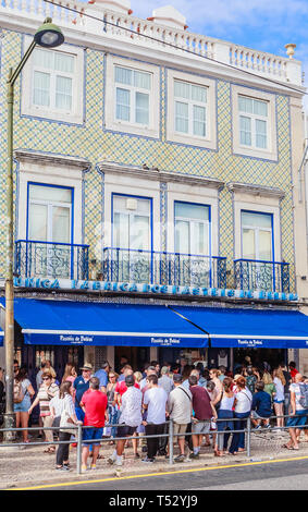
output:
[[[174,70],[167,76],[167,139],[215,149],[215,82]]]

